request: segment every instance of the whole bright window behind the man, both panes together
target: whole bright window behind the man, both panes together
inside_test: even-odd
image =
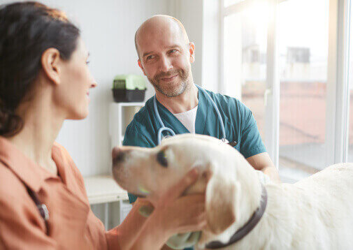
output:
[[[285,182],[322,170],[330,162],[328,154],[337,161],[328,147],[335,138],[327,136],[334,133],[334,124],[327,120],[334,117],[331,113],[340,98],[331,98],[334,94],[328,91],[328,65],[335,64],[328,57],[329,31],[330,36],[340,36],[329,27],[330,1],[334,6],[345,0],[223,1],[220,89],[252,110],[266,147],[266,138],[272,136],[269,144]],[[277,71],[267,68],[274,62]],[[272,93],[273,86],[280,91]],[[279,105],[278,114],[266,108],[268,102]],[[352,109],[350,114],[353,119]],[[353,122],[351,128],[353,132]],[[350,136],[353,159],[353,133]]]

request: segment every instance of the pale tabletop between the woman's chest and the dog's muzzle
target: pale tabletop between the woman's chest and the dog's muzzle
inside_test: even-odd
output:
[[[127,191],[120,188],[110,175],[95,175],[83,179],[90,205],[129,199]]]

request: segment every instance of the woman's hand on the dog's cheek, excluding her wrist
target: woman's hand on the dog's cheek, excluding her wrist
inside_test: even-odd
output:
[[[159,198],[147,198],[154,206],[150,223],[156,223],[166,237],[202,230],[206,226],[205,195],[182,196],[197,177],[197,169],[193,169]]]

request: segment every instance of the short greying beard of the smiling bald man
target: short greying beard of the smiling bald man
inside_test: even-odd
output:
[[[178,82],[178,86],[172,87],[171,84],[173,83],[168,83],[164,82],[161,84],[159,81],[161,78],[169,78],[173,75],[177,75],[180,77],[181,81]],[[159,73],[158,75],[154,76],[154,78],[148,78],[152,85],[161,93],[164,94],[164,96],[167,97],[175,97],[179,96],[180,94],[184,93],[184,91],[189,87],[189,71],[183,71],[182,69],[179,70],[173,70],[173,71],[168,71],[167,73]]]

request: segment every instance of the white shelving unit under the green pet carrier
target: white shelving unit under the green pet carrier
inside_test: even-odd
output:
[[[109,135],[111,149],[122,145],[127,125],[145,103],[111,103],[109,107]]]

